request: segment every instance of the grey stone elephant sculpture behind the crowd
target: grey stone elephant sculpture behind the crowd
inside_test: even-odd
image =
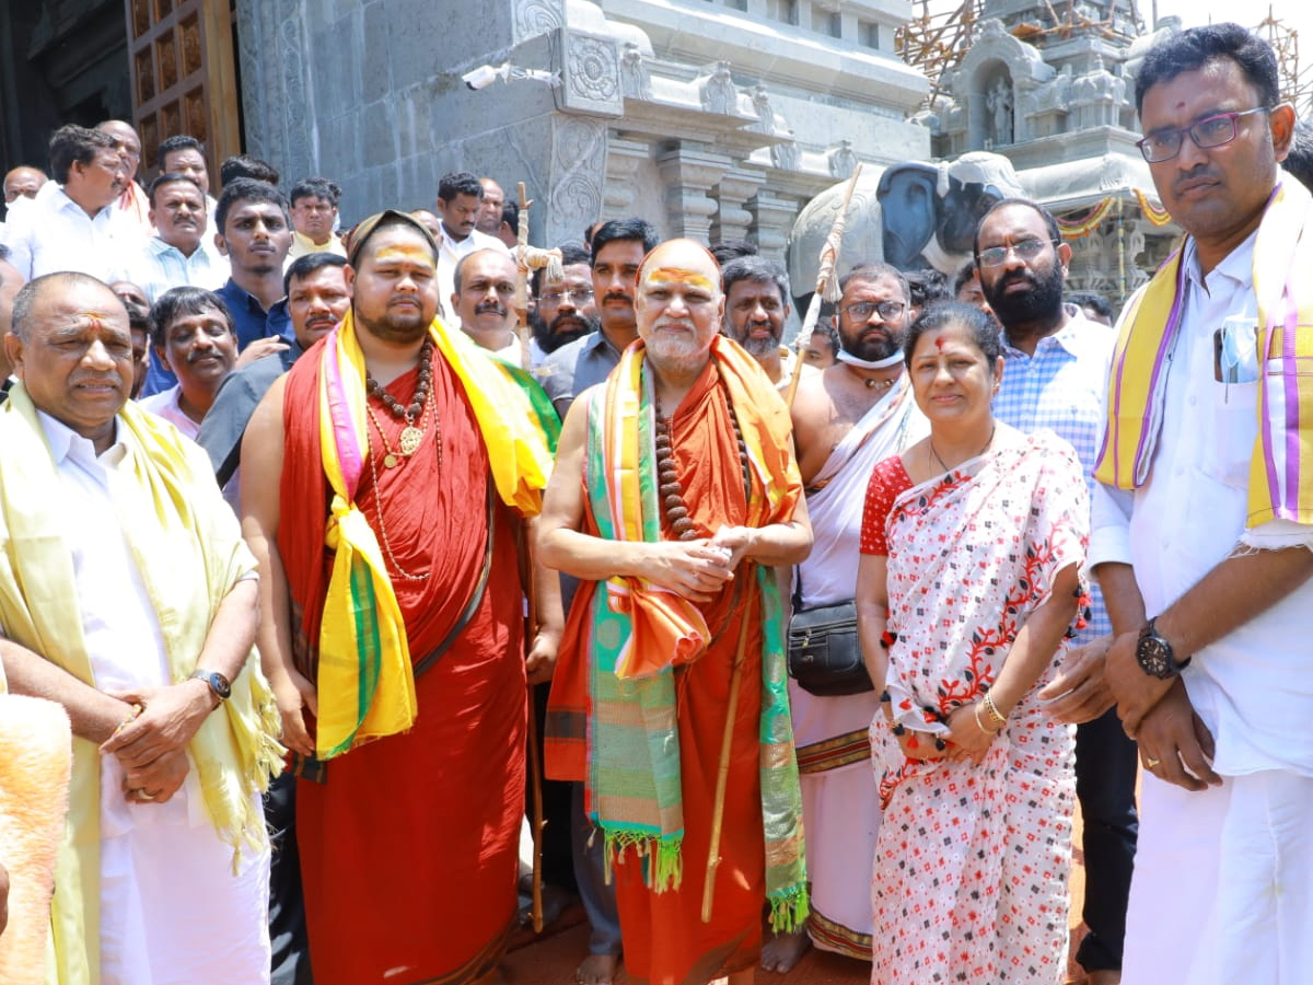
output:
[[[789,235],[789,284],[800,311],[815,288],[821,248],[843,202],[839,183],[813,198]],[[1025,196],[1012,162],[973,151],[953,162],[903,162],[882,172],[863,167],[839,246],[842,277],[860,263],[884,260],[901,271],[934,267],[953,274],[970,256],[976,226],[1002,198]]]

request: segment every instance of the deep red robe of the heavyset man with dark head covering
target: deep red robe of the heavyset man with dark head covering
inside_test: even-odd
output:
[[[284,399],[278,548],[301,613],[302,649],[318,638],[332,567],[323,548],[330,489],[318,412],[307,412],[318,407],[318,353],[297,361]],[[416,383],[412,370],[387,390],[407,406]],[[387,469],[372,422],[378,489],[366,465],[357,494],[416,663],[465,608],[487,528],[487,450],[460,380],[436,355],[433,394],[441,445],[431,420],[420,449]],[[395,450],[402,423],[378,401],[369,403]],[[428,577],[402,578],[398,565]],[[487,591],[469,625],[416,680],[414,729],[331,760],[326,783],[299,783],[297,839],[318,985],[469,982],[500,959],[517,914],[524,814],[521,599],[513,519],[498,500]]]

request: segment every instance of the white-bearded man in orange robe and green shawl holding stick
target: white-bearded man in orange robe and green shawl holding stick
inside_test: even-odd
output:
[[[773,565],[811,544],[769,380],[717,334],[720,268],[679,239],[639,267],[641,343],[566,419],[542,563],[582,579],[548,771],[586,783],[633,980],[752,981],[762,904],[806,915]]]

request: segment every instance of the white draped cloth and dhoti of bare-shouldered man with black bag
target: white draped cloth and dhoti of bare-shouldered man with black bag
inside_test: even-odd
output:
[[[798,566],[804,608],[852,599],[871,470],[919,440],[926,427],[902,376],[813,479],[807,489],[813,546]],[[868,691],[818,697],[790,679],[789,708],[807,833],[807,934],[825,951],[871,960],[869,873],[880,831],[880,797],[871,774],[868,729],[880,696]]]

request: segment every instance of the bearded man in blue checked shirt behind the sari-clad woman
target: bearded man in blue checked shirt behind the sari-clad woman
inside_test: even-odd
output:
[[[1064,303],[1071,247],[1062,242],[1048,209],[1025,198],[1004,198],[981,218],[974,255],[982,298],[1003,326],[1004,368],[994,395],[995,419],[1027,433],[1053,431],[1075,449],[1086,483],[1092,485],[1116,336],[1075,305]],[[1077,645],[1112,632],[1098,587],[1091,595]],[[1095,649],[1095,661],[1104,649]],[[1075,959],[1090,985],[1115,985],[1121,977],[1136,852],[1136,745],[1121,730],[1106,690],[1090,695],[1074,678],[1054,693],[1052,713],[1081,724],[1075,787],[1085,821],[1082,915],[1090,932]]]

